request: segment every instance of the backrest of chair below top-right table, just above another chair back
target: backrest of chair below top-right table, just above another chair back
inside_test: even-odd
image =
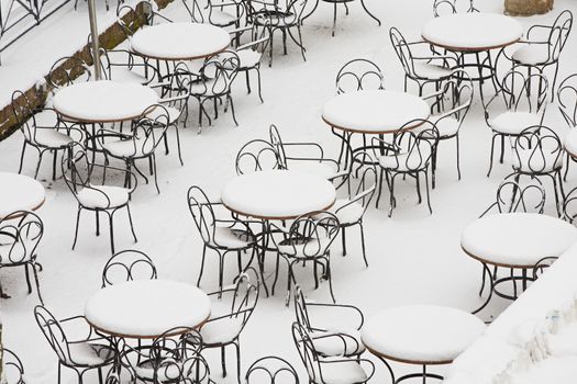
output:
[[[531,71],[531,75],[529,75]],[[544,113],[547,104],[548,81],[539,68],[508,71],[500,82],[501,95],[508,110]]]

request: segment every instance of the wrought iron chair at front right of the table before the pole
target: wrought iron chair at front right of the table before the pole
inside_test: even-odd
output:
[[[114,129],[101,128],[95,135],[104,151],[104,157],[112,157],[124,162],[126,173],[135,169],[148,183],[148,179],[136,167],[136,160],[148,160],[151,174],[154,176],[156,191],[158,188],[158,172],[156,168],[156,149],[166,135],[170,124],[168,110],[162,104],[148,106],[132,125],[129,134]],[[131,179],[126,179],[126,187],[132,187]]]

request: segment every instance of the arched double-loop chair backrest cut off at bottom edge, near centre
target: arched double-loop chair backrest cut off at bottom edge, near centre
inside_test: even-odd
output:
[[[246,384],[299,384],[299,375],[285,359],[269,355],[256,360],[245,374]]]

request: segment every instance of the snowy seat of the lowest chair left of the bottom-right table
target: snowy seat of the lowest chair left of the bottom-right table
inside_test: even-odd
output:
[[[330,363],[335,360],[346,361]],[[363,366],[356,360],[346,358],[321,359],[321,372],[314,374],[314,383],[317,384],[355,384],[364,383],[367,379],[367,373]]]

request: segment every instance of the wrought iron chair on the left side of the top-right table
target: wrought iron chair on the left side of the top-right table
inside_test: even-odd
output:
[[[450,55],[431,55],[422,53],[417,56],[413,50],[420,46],[430,49],[426,42],[407,42],[401,32],[391,27],[389,31],[392,48],[404,70],[404,91],[408,91],[409,80],[419,87],[419,95],[423,95],[424,87],[433,84],[439,90],[441,82],[451,78],[457,67],[457,59]],[[437,63],[437,64],[435,64]]]

